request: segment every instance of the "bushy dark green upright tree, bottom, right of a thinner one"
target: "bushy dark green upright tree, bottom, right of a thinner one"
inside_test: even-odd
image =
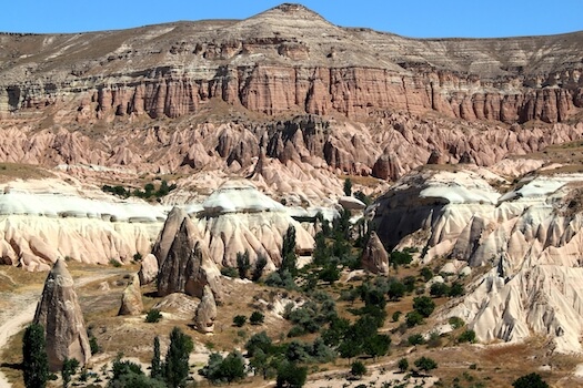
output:
[[[164,378],[171,388],[184,387],[189,377],[189,355],[192,338],[174,327],[170,333],[170,346],[164,360]]]

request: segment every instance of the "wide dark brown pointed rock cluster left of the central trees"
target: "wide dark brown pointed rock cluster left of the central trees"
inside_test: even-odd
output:
[[[199,298],[209,286],[217,302],[222,300],[221,273],[189,217],[182,221],[158,274],[158,294],[184,293]]]

